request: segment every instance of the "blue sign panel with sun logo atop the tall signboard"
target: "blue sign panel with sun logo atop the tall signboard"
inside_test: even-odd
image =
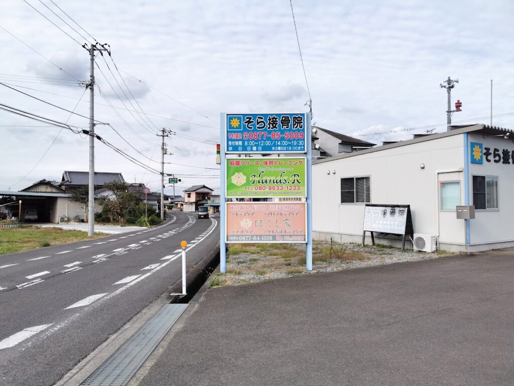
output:
[[[306,114],[227,114],[225,152],[307,152]]]

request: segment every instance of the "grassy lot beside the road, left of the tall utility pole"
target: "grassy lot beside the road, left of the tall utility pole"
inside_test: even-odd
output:
[[[104,236],[102,233],[95,233],[95,236],[88,237],[87,233],[82,231],[67,231],[37,226],[0,229],[0,254],[49,247],[50,245],[67,244]]]

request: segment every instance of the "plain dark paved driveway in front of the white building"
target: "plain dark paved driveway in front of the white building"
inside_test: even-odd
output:
[[[514,252],[210,289],[142,385],[512,385]]]

